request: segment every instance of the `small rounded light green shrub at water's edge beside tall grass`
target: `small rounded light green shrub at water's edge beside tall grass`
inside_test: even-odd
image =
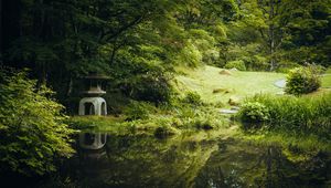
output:
[[[239,116],[244,122],[259,123],[269,119],[268,108],[259,102],[247,102],[242,105]]]

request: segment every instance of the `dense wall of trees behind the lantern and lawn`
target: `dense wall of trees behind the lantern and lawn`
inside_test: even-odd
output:
[[[2,8],[1,63],[30,67],[66,105],[89,72],[110,76],[113,92],[160,103],[169,101],[174,65],[330,64],[330,0],[12,0]]]

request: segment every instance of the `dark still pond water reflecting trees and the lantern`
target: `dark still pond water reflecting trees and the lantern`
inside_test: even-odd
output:
[[[325,154],[292,161],[278,147],[205,132],[167,139],[81,134],[62,171],[74,187],[331,187]]]

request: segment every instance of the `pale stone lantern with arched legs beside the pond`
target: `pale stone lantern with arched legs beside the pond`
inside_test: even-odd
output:
[[[83,77],[89,88],[84,91],[85,97],[79,102],[78,115],[107,115],[107,104],[102,95],[106,94],[103,90],[103,82],[108,80],[107,76],[90,74]]]

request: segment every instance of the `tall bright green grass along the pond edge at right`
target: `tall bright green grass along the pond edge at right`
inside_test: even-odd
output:
[[[267,128],[281,128],[295,133],[312,133],[330,138],[331,93],[320,96],[275,96],[258,94],[244,103],[260,103],[267,107]],[[239,113],[241,117],[244,114]]]

